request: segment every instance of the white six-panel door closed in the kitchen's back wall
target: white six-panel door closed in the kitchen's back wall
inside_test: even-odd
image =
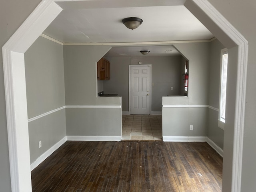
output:
[[[150,66],[130,66],[130,114],[150,114]]]

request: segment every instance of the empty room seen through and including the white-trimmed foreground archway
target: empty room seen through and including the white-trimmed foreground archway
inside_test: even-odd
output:
[[[6,191],[251,187],[247,41],[208,1],[34,8],[2,48]]]

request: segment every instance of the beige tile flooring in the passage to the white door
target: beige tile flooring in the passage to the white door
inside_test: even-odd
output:
[[[122,140],[162,140],[162,115],[122,115]]]

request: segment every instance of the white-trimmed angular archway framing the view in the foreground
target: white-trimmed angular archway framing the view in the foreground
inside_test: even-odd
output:
[[[66,2],[66,0],[43,0],[13,36],[3,46],[4,80],[6,90],[6,111],[8,126],[8,141],[10,154],[10,172],[13,191],[31,191],[30,157],[28,144],[28,121],[26,106],[26,86],[24,73],[24,52],[38,38],[44,29],[58,16],[63,8],[80,6],[82,2]],[[97,1],[96,1],[97,2]],[[100,5],[100,1],[97,2]],[[140,2],[148,3],[148,1]],[[156,2],[159,5],[159,2]],[[164,2],[163,5],[177,5],[177,2]],[[228,125],[227,134],[231,134],[231,150],[224,155],[224,177],[227,187],[232,191],[240,191],[242,142],[244,129],[244,106],[246,89],[246,66],[248,45],[246,39],[220,15],[207,0],[187,0],[180,5],[186,6],[227,48],[231,48],[236,66],[233,77],[236,78],[234,116]],[[126,6],[133,6],[127,2]],[[231,102],[231,104],[232,104]],[[229,106],[228,106],[229,107]],[[234,126],[234,129],[232,128]],[[230,137],[230,135],[229,135]],[[227,137],[226,137],[227,138]],[[234,140],[233,140],[234,138]],[[224,138],[225,140],[225,138]],[[229,163],[230,167],[225,162]],[[232,166],[233,165],[233,166]],[[227,168],[226,168],[227,167]],[[230,170],[231,169],[231,170]],[[224,180],[225,181],[225,180]]]

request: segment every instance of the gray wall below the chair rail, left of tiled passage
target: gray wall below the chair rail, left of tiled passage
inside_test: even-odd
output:
[[[68,136],[121,136],[120,108],[67,108]]]

